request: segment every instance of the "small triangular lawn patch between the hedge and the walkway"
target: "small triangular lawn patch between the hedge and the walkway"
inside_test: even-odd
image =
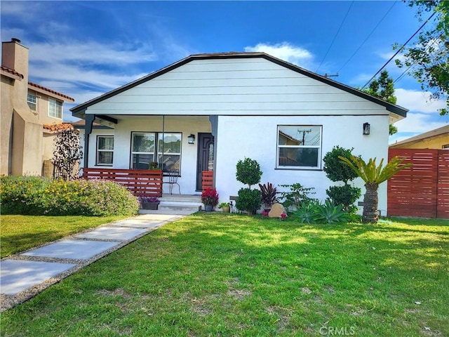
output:
[[[1,258],[123,216],[0,216]]]

